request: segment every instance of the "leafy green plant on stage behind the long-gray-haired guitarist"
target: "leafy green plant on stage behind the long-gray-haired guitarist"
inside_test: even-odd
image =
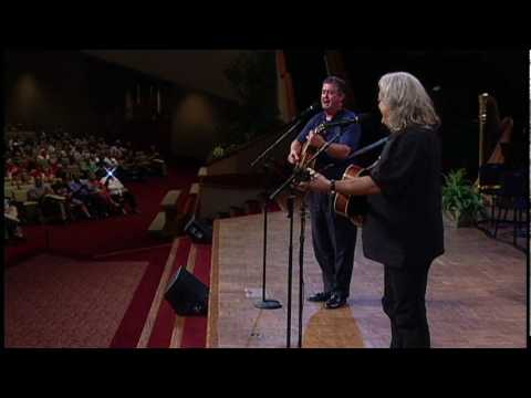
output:
[[[485,212],[483,198],[462,168],[445,176],[442,211],[447,223],[456,228],[475,226]]]

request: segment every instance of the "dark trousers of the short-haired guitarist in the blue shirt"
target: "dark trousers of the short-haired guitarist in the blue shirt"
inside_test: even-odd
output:
[[[348,296],[357,228],[335,213],[329,193],[312,192],[309,197],[313,251],[323,272],[324,291]]]

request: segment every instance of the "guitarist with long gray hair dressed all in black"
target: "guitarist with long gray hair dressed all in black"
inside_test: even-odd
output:
[[[439,118],[421,83],[406,72],[378,82],[382,123],[391,130],[369,175],[331,181],[310,170],[303,188],[367,196],[366,258],[384,264],[384,312],[392,348],[430,347],[426,316],[428,271],[444,253]],[[335,187],[334,187],[335,185]]]

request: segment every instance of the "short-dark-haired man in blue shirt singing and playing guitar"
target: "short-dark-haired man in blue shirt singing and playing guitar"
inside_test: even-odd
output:
[[[340,129],[340,138],[330,145],[316,159],[315,167],[330,179],[341,179],[348,164],[345,159],[357,149],[361,127],[357,124],[336,126],[319,133],[323,123],[353,119],[356,114],[344,108],[345,82],[336,76],[323,81],[321,105],[323,111],[313,116],[291,144],[288,161],[299,164],[304,144],[321,148]],[[305,165],[300,165],[305,166]],[[335,213],[333,197],[329,193],[310,192],[312,240],[315,258],[323,272],[324,290],[309,297],[312,302],[325,302],[326,308],[339,308],[346,304],[350,294],[356,227],[346,218]]]

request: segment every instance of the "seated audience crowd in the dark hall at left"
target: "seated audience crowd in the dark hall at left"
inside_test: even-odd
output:
[[[146,153],[59,132],[9,138],[4,172],[6,239],[20,239],[21,223],[137,213],[124,184],[165,176],[166,165],[155,146]]]

